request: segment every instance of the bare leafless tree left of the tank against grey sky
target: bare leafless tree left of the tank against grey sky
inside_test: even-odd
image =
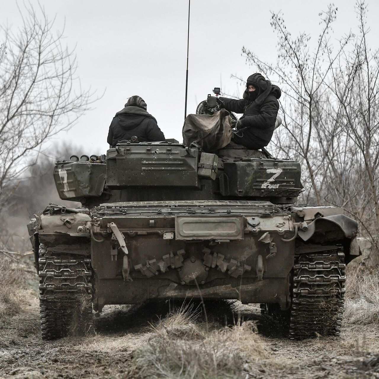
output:
[[[31,5],[20,14],[16,31],[0,26],[0,210],[41,144],[70,128],[93,102],[75,77],[74,50],[63,44],[55,19]]]

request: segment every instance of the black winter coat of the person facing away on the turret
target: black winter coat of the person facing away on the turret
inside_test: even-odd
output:
[[[138,106],[126,106],[116,113],[109,127],[107,142],[116,146],[123,139],[138,137],[138,142],[164,141],[164,134],[157,120],[146,110]]]

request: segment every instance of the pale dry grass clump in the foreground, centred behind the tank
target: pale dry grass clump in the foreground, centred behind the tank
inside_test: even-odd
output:
[[[128,377],[242,378],[249,363],[268,357],[254,323],[229,328],[196,318],[196,311],[182,308],[152,326]]]

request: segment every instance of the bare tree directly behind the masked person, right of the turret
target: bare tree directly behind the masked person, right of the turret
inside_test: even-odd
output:
[[[332,64],[343,55],[344,49],[352,38],[349,33],[341,38],[335,48],[330,44],[332,23],[337,16],[337,8],[330,5],[326,12],[321,12],[321,32],[317,42],[312,46],[311,36],[301,33],[296,38],[287,30],[281,13],[272,13],[271,25],[278,37],[278,59],[276,64],[266,63],[254,52],[243,48],[247,62],[256,66],[269,78],[280,83],[283,96],[283,129],[276,135],[274,143],[288,157],[301,159],[308,172],[312,193],[317,204],[322,203],[321,188],[325,168],[334,158],[330,153],[330,144],[337,140],[340,133],[338,123],[325,127],[330,117],[325,114],[334,109],[327,109],[327,96],[324,80],[330,75]],[[331,57],[328,62],[326,56]],[[330,115],[330,114],[329,114]],[[337,115],[335,115],[337,117]],[[331,130],[332,128],[332,130]],[[327,132],[327,135],[324,133]],[[332,138],[330,138],[332,137]],[[327,152],[327,153],[326,153]]]

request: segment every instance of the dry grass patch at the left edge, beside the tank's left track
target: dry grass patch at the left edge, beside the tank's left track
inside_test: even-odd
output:
[[[0,256],[0,328],[22,312],[29,303],[30,292],[22,266]]]

